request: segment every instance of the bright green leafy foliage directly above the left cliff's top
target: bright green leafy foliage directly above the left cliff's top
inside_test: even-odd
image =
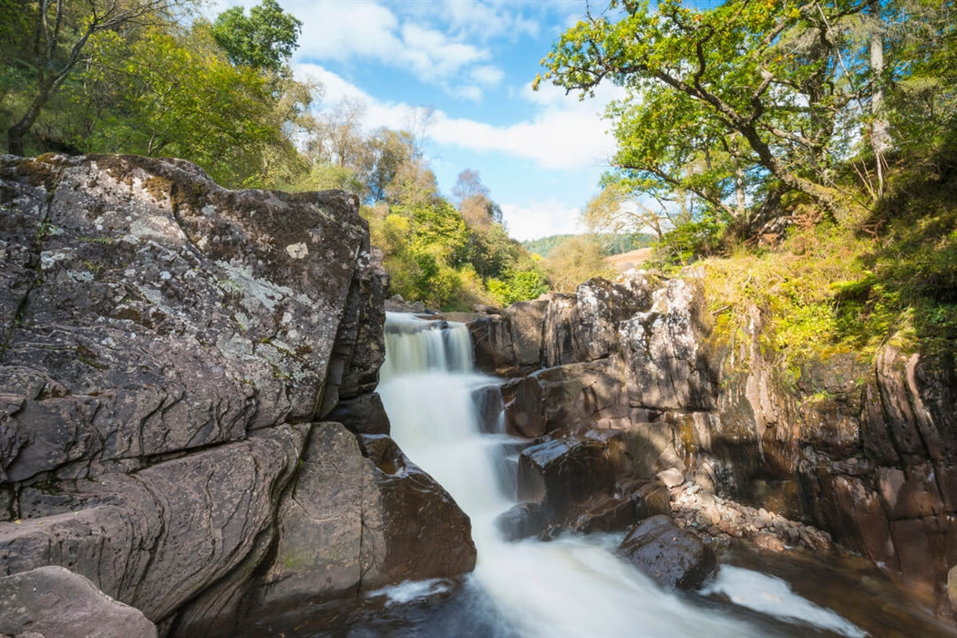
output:
[[[83,5],[70,5],[76,12],[63,19],[54,54],[64,73],[45,96],[53,108],[34,114],[32,134],[23,139],[30,149],[171,155],[203,166],[225,186],[276,185],[302,172],[287,131],[303,118],[312,87],[271,69],[232,64],[209,23],[197,20],[186,29],[176,22],[181,16],[171,11],[183,4],[95,2],[89,7],[102,10],[95,18],[84,17]],[[110,19],[111,11],[119,13]],[[84,27],[90,20],[100,28]],[[72,38],[82,47],[67,54]],[[74,53],[78,61],[69,66]],[[17,83],[26,64],[12,58],[0,68],[0,77],[13,79],[0,113],[11,128],[49,79]]]

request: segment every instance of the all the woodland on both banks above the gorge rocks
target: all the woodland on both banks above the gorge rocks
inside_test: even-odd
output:
[[[322,86],[297,81],[301,23],[275,0],[212,19],[192,0],[0,0],[0,18],[9,152],[176,156],[226,187],[356,192],[410,301],[573,290],[608,274],[610,235],[650,236],[650,266],[712,264],[721,294],[780,315],[797,350],[957,331],[949,2],[590,6],[535,84],[627,95],[606,114],[617,150],[584,207],[597,234],[553,251],[509,238],[477,171],[439,192],[428,108],[367,131],[362,103],[324,104]]]

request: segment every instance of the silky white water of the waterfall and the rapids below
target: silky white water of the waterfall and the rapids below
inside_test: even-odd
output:
[[[501,490],[501,450],[507,437],[481,433],[473,402],[477,389],[496,383],[475,373],[465,326],[448,326],[443,330],[436,322],[389,314],[378,391],[392,437],[471,517],[479,550],[471,584],[487,593],[511,629],[526,636],[768,635],[767,627],[658,588],[615,556],[620,536],[502,541],[494,521],[514,504]],[[711,586],[770,616],[864,635],[834,612],[793,594],[783,582],[778,582],[783,589],[774,583],[773,605],[765,605],[768,580],[774,579],[735,568]],[[403,596],[415,586],[430,585],[409,585],[390,596],[409,600]]]

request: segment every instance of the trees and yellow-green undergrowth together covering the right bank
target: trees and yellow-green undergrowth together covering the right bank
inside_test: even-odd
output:
[[[609,107],[592,225],[704,266],[719,330],[748,307],[788,369],[957,342],[957,11],[939,0],[612,0],[537,83]],[[733,332],[732,332],[733,334]]]

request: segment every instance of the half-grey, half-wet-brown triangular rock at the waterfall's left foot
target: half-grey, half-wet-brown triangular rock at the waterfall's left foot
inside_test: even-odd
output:
[[[315,603],[475,566],[471,524],[452,497],[388,436],[360,441],[340,424],[314,426],[256,605]]]

